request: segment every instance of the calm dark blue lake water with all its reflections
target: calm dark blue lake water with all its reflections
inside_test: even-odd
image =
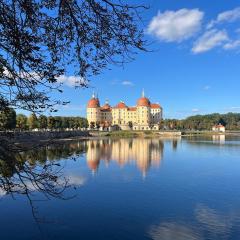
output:
[[[240,239],[240,138],[71,142],[0,161],[1,239]]]

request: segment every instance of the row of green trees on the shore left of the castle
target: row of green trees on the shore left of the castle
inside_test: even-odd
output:
[[[79,129],[87,128],[88,121],[83,117],[37,116],[35,113],[26,116],[16,114],[12,108],[0,112],[0,130],[32,129]]]

